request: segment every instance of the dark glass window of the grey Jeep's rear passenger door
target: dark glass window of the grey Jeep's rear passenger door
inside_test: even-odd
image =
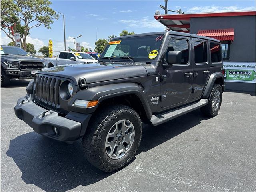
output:
[[[195,63],[207,62],[207,44],[206,42],[194,41]]]

